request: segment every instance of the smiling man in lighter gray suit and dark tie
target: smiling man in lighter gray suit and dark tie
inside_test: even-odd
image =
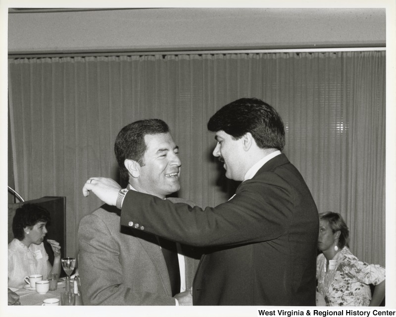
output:
[[[150,119],[125,126],[114,150],[128,189],[161,199],[180,189],[178,147],[165,122]],[[184,199],[167,199],[194,206]],[[122,229],[119,209],[109,205],[81,220],[79,272],[84,304],[192,305],[190,288],[199,254],[192,247],[160,240],[139,224],[134,226],[139,230]]]

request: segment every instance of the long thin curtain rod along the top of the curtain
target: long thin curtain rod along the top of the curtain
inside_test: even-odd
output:
[[[174,50],[142,52],[84,52],[84,53],[26,53],[8,54],[8,58],[35,57],[86,57],[86,56],[125,56],[125,55],[192,55],[192,54],[257,54],[257,53],[299,53],[299,52],[342,52],[386,50],[386,47],[329,47],[329,48],[284,48],[284,49],[240,49],[240,50]]]

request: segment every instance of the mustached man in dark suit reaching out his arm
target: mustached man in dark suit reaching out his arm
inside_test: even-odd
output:
[[[300,173],[281,153],[285,132],[265,102],[242,98],[209,120],[226,177],[242,181],[226,203],[202,210],[92,178],[83,193],[121,208],[121,225],[205,247],[194,305],[314,306],[318,212]]]

